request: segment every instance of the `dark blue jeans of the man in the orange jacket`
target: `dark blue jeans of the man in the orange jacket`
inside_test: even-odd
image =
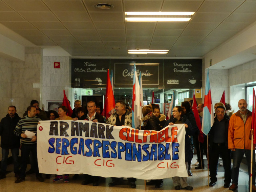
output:
[[[243,155],[246,155],[246,161],[248,165],[248,174],[249,174],[249,185],[251,180],[251,150],[249,149],[236,149],[233,151],[233,167],[232,167],[232,184],[238,184],[238,174],[239,174],[239,167],[243,158]],[[252,184],[255,185],[255,150],[253,150],[253,168],[252,168]]]

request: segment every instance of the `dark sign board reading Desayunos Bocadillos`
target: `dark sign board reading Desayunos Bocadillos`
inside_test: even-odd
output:
[[[165,88],[201,88],[201,59],[164,59]]]

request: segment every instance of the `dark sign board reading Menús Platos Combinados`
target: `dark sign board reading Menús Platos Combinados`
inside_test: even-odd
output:
[[[72,59],[72,88],[106,88],[109,59]]]

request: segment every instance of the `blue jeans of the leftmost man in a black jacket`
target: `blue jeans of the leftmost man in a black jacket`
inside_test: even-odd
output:
[[[6,173],[9,150],[11,150],[12,152],[14,173],[19,173],[19,168],[20,168],[20,164],[18,162],[19,148],[12,148],[12,149],[2,148],[1,173],[3,174]]]

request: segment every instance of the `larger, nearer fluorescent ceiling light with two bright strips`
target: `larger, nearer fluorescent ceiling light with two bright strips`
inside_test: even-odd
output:
[[[194,12],[125,12],[131,22],[188,22]]]

